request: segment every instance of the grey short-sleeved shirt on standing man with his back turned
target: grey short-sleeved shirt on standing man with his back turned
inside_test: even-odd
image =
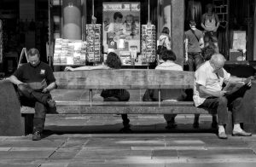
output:
[[[195,34],[191,31],[191,29],[185,32],[185,39],[188,39],[188,52],[201,52],[200,48],[200,39],[203,37],[203,33],[200,30],[195,29]],[[198,38],[196,38],[195,37]]]

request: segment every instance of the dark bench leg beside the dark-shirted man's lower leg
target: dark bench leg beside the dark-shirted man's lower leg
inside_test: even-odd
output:
[[[23,113],[21,115],[21,123],[24,127],[24,135],[32,134],[33,130],[33,113]]]

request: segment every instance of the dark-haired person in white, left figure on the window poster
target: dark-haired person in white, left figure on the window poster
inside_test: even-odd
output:
[[[108,32],[114,32],[116,35],[121,35],[125,31],[125,27],[123,25],[123,14],[120,12],[115,12],[113,14],[113,22],[108,26]]]

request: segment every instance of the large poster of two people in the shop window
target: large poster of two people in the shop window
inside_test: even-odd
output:
[[[128,55],[140,51],[140,3],[103,3],[104,52]]]

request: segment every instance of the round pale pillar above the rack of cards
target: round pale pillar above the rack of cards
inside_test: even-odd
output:
[[[81,0],[65,0],[62,4],[63,31],[65,39],[82,39]]]

